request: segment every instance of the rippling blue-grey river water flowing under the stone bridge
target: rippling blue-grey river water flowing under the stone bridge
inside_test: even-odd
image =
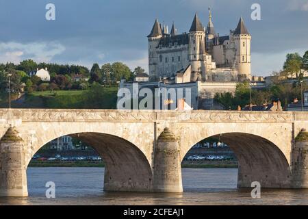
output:
[[[182,194],[103,192],[104,168],[28,168],[27,198],[0,198],[0,205],[308,205],[308,190],[236,188],[238,170],[184,168]],[[45,183],[55,183],[55,198],[46,198]]]

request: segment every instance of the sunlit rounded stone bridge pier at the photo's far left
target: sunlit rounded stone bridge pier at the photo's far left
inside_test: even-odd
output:
[[[0,140],[0,196],[28,196],[25,149],[14,128]]]

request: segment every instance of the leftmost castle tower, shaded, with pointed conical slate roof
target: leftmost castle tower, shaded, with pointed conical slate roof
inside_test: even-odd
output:
[[[160,38],[162,38],[162,27],[158,20],[155,20],[151,33],[148,36],[149,40],[149,77],[158,78],[158,55],[157,47]]]

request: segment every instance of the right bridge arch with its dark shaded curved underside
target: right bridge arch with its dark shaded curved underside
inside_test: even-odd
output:
[[[262,188],[290,188],[292,172],[287,157],[279,146],[255,134],[227,132],[199,136],[193,144],[181,147],[181,159],[192,146],[206,138],[220,139],[235,153],[239,164],[238,188],[251,188],[253,181],[261,183]]]

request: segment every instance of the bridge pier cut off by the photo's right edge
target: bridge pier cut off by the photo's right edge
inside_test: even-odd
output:
[[[308,188],[308,131],[301,131],[292,150],[292,188]]]

